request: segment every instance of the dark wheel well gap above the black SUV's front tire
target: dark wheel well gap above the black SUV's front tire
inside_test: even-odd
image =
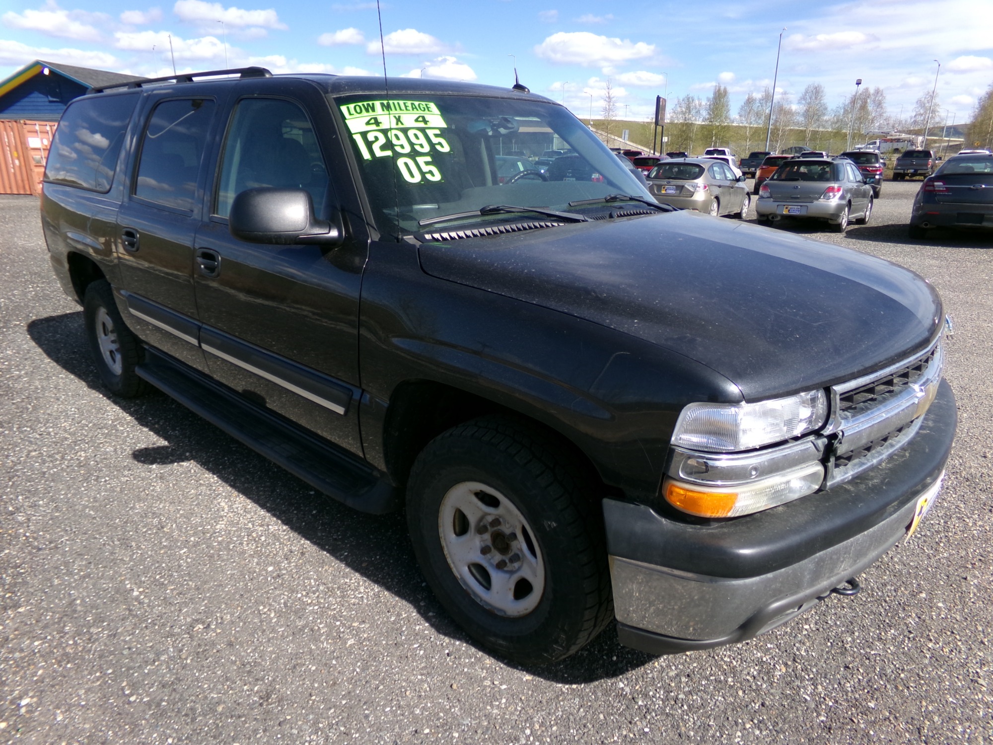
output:
[[[383,454],[389,475],[396,484],[405,485],[425,445],[457,424],[487,414],[505,414],[543,431],[579,458],[600,482],[599,472],[586,453],[560,432],[488,398],[431,380],[402,382],[393,391],[383,427]]]

